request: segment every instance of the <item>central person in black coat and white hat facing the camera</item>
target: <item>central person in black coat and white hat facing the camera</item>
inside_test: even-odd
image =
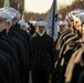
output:
[[[46,34],[46,22],[40,21],[36,25],[36,34],[30,39],[32,83],[49,83],[56,61],[55,45]]]

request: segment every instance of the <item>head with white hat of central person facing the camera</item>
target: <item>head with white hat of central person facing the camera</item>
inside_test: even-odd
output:
[[[46,24],[48,23],[44,21],[40,21],[36,23],[36,31],[40,35],[43,35],[45,33]]]

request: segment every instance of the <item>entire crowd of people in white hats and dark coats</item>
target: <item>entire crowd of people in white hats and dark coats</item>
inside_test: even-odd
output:
[[[84,10],[57,23],[57,39],[48,22],[21,20],[14,8],[0,9],[0,83],[83,83]]]

